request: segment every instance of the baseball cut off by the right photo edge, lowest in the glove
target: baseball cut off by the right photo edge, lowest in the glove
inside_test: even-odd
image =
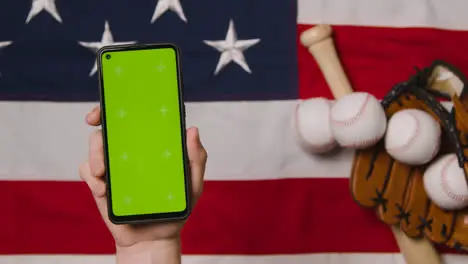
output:
[[[438,207],[456,210],[468,205],[465,171],[458,166],[455,154],[441,156],[429,165],[423,182],[427,195]]]

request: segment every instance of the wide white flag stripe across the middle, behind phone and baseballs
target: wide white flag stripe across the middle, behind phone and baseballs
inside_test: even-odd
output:
[[[207,180],[348,177],[353,151],[312,156],[295,142],[298,101],[188,103],[209,154]],[[0,103],[0,180],[79,180],[93,103]],[[450,104],[448,104],[450,106]]]

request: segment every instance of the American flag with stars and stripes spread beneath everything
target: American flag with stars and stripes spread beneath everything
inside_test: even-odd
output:
[[[95,52],[125,42],[182,50],[187,122],[210,156],[184,263],[403,263],[389,228],[351,199],[352,151],[311,156],[293,139],[298,101],[332,98],[298,36],[332,24],[354,89],[382,98],[433,59],[468,73],[467,10],[466,0],[0,1],[0,263],[115,262],[78,166],[98,103]],[[449,264],[467,260],[440,250]]]

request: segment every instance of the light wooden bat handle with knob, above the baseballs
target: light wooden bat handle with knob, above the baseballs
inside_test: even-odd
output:
[[[309,49],[337,99],[353,92],[336,53],[329,25],[317,25],[301,34],[301,43]]]

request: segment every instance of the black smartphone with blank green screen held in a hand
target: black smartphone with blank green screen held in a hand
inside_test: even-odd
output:
[[[176,221],[190,214],[179,49],[174,44],[98,51],[109,219]]]

